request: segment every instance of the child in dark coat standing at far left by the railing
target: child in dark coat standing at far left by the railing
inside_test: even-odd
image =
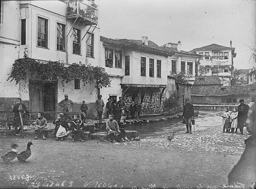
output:
[[[16,105],[13,107],[12,112],[14,113],[13,126],[15,127],[15,130],[17,130],[16,134],[18,134],[21,130],[20,113],[21,113],[23,120],[25,118],[24,113],[28,113],[26,106],[24,104],[22,104],[22,100],[20,98],[16,99]],[[23,123],[24,123],[24,121],[23,121]],[[18,127],[20,127],[20,128],[18,129]]]

